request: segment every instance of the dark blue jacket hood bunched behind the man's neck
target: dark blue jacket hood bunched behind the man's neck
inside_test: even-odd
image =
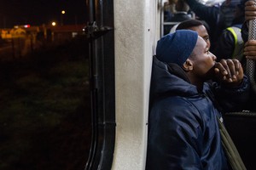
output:
[[[192,96],[199,94],[197,88],[189,82],[183,69],[175,64],[161,62],[153,57],[150,98],[155,99],[166,94]]]

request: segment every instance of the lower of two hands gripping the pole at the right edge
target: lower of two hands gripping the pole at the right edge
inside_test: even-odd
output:
[[[244,44],[243,54],[247,59],[256,60],[256,40],[248,40]]]

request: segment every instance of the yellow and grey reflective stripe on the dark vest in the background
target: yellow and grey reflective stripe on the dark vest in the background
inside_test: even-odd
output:
[[[243,40],[241,38],[241,29],[236,26],[231,26],[227,28],[228,31],[230,31],[234,37],[235,40],[235,48],[232,53],[233,59],[239,59],[241,61],[242,59],[242,52],[243,52]]]

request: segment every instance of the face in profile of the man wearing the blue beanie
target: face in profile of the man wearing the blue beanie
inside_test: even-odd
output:
[[[203,80],[212,78],[216,56],[209,51],[209,45],[202,37],[198,37],[189,59],[196,77],[201,77]]]

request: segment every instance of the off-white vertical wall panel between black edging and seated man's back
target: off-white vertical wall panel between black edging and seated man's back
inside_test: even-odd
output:
[[[159,14],[154,0],[114,1],[116,140],[113,167],[144,169],[148,95]]]

